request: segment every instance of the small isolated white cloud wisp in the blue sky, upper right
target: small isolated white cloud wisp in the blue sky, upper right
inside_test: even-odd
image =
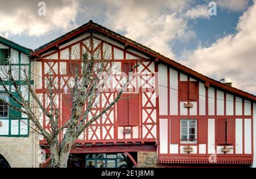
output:
[[[209,18],[209,7],[206,5],[197,5],[195,8],[185,12],[184,16],[190,19]]]

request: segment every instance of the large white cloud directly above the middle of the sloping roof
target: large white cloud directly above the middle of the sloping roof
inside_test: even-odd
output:
[[[121,31],[126,37],[175,58],[170,42],[195,37],[187,19],[181,16],[190,5],[187,0],[109,1],[105,23],[114,31]]]

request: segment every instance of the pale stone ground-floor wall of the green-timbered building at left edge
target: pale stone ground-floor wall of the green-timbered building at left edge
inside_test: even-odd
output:
[[[33,143],[32,137],[0,137],[0,154],[5,157],[11,168],[39,167],[38,160],[34,161],[34,156],[38,156],[36,151],[39,150],[39,146],[35,146],[34,153]]]

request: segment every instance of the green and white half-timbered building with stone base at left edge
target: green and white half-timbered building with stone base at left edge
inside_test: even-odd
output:
[[[8,75],[8,70],[11,68],[13,78],[19,85],[19,91],[27,101],[30,100],[30,95],[26,88],[27,83],[23,70],[26,69],[27,75],[30,76],[32,51],[0,36],[0,76],[7,90],[17,97],[18,94]],[[9,107],[7,103],[21,108],[7,95],[2,83],[0,84],[0,99],[2,99],[0,103],[0,168],[38,167],[35,159],[35,141],[30,135],[27,116]],[[7,103],[4,103],[3,100]]]

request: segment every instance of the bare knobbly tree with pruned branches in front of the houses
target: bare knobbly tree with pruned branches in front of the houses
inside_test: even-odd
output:
[[[110,65],[109,62],[112,59],[110,55],[110,49],[105,48],[101,42],[101,51],[92,52],[86,50],[82,52],[82,59],[80,52],[73,53],[77,55],[77,59],[80,62],[71,63],[69,70],[72,73],[72,78],[69,80],[68,88],[65,89],[65,93],[69,93],[71,98],[62,99],[62,103],[72,103],[71,116],[68,116],[67,122],[60,125],[60,109],[56,105],[55,94],[56,89],[53,87],[56,80],[53,77],[44,79],[47,88],[46,96],[48,99],[48,104],[50,110],[48,110],[42,103],[42,96],[35,92],[35,85],[32,86],[30,83],[30,75],[27,69],[23,69],[22,73],[24,75],[23,82],[26,83],[27,91],[30,93],[30,100],[26,100],[24,97],[24,92],[19,88],[19,84],[15,80],[16,72],[12,68],[11,63],[9,65],[1,66],[2,75],[0,75],[0,85],[2,85],[3,90],[9,96],[10,99],[14,100],[16,104],[20,107],[12,105],[9,101],[4,98],[0,98],[1,103],[6,103],[10,108],[13,108],[23,114],[26,114],[28,120],[32,121],[31,128],[36,133],[42,135],[49,146],[51,152],[51,167],[67,167],[68,157],[74,146],[75,140],[80,136],[80,134],[90,126],[98,118],[102,117],[108,110],[120,99],[122,92],[125,90],[130,82],[130,77],[135,68],[137,68],[141,60],[138,59],[135,65],[130,67],[129,75],[123,74],[122,77],[122,87],[117,96],[111,103],[109,103],[100,113],[90,116],[89,112],[94,105],[99,103],[97,97],[102,92],[104,87],[108,86],[108,80],[111,78]],[[68,70],[68,69],[66,69]],[[50,72],[51,73],[51,72]],[[5,75],[5,76],[3,76]],[[36,74],[34,74],[34,78]],[[38,78],[42,78],[39,76]],[[6,84],[6,79],[13,86],[13,90],[17,95],[13,95],[9,87]],[[65,100],[67,100],[65,102]],[[69,101],[71,100],[71,101]],[[46,115],[51,126],[51,132],[44,129],[40,118],[42,118],[42,112]],[[89,120],[88,120],[89,118]],[[63,139],[59,138],[61,132],[64,132]]]

